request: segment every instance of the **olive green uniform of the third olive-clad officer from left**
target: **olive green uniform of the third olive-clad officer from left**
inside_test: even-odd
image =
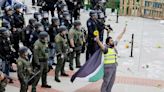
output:
[[[56,53],[57,53],[57,65],[55,69],[55,77],[59,77],[59,72],[64,74],[64,66],[67,61],[67,53],[69,50],[69,44],[66,36],[62,36],[61,34],[56,35],[55,37],[56,43]]]

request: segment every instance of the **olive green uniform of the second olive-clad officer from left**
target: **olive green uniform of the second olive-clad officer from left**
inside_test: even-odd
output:
[[[39,39],[34,43],[34,62],[40,65],[41,74],[37,78],[42,79],[42,85],[47,85],[47,73],[48,73],[48,43],[41,42]]]

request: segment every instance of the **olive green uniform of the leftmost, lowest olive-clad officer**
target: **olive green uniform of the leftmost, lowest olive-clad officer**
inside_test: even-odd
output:
[[[30,75],[32,74],[32,68],[30,66],[30,62],[19,57],[17,59],[17,72],[18,79],[21,84],[20,92],[27,92],[28,90],[28,80],[30,79]]]

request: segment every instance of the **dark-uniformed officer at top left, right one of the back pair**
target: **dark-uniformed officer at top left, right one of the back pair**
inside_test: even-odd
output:
[[[15,12],[13,14],[14,17],[14,26],[15,28],[23,28],[25,25],[24,15],[23,15],[23,7],[21,4],[16,4],[14,6]]]

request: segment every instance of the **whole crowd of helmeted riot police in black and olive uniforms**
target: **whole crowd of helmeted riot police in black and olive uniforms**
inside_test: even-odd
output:
[[[52,65],[55,65],[55,57],[57,63],[54,80],[61,82],[60,75],[69,76],[64,69],[66,62],[69,63],[70,70],[74,70],[75,59],[76,68],[80,68],[80,55],[85,52],[85,47],[87,46],[86,60],[99,48],[94,41],[94,31],[99,31],[102,41],[104,29],[110,29],[110,26],[105,25],[104,12],[96,9],[89,14],[86,32],[78,20],[80,6],[72,8],[69,4],[77,5],[79,2],[71,0],[65,2],[63,0],[56,2],[58,17],[52,17],[51,23],[48,12],[35,12],[27,26],[20,4],[14,8],[10,6],[5,8],[0,28],[0,50],[2,50],[0,68],[9,76],[10,66],[16,61],[18,79],[21,83],[20,92],[27,92],[28,85],[32,85],[32,92],[36,92],[40,78],[42,87],[51,88],[47,83],[47,73],[53,69]],[[52,16],[53,14],[51,13]],[[26,47],[21,47],[20,43]],[[27,53],[27,49],[32,52],[33,57]],[[28,83],[31,80],[33,83]]]

